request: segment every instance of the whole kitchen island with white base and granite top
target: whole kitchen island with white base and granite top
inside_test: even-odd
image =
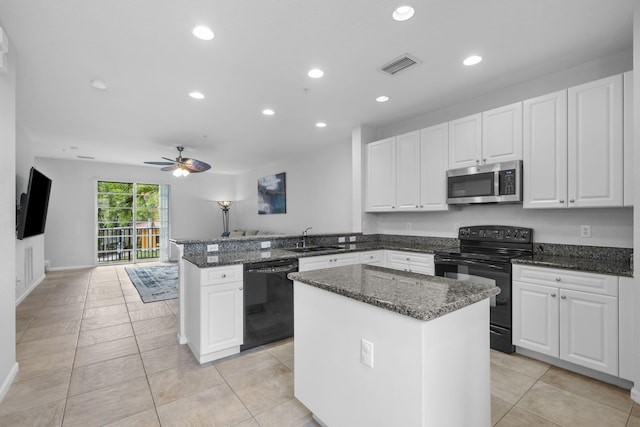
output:
[[[289,275],[295,395],[329,426],[489,426],[491,285],[369,265]]]

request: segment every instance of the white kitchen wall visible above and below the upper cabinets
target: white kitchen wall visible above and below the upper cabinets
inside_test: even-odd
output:
[[[491,108],[522,101],[633,68],[633,52],[624,51],[578,67],[542,76],[438,111],[378,129],[377,139],[421,129]],[[363,141],[366,142],[366,141]],[[364,150],[363,150],[364,151]],[[456,237],[458,226],[529,226],[546,243],[633,247],[633,209],[525,210],[521,206],[468,206],[449,212],[363,214],[365,233]],[[411,231],[407,230],[410,223]],[[579,225],[591,225],[592,237],[579,237]]]

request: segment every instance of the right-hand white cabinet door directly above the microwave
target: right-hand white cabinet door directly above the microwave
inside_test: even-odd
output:
[[[482,163],[522,159],[522,102],[482,113]]]

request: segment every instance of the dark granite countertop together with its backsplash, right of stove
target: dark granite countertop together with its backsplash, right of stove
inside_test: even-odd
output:
[[[632,254],[633,249],[628,248],[536,243],[533,256],[511,263],[633,277]]]

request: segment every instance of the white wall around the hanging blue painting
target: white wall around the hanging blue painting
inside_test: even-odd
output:
[[[287,213],[258,215],[258,179],[285,172]],[[230,227],[278,233],[352,231],[351,142],[323,147],[237,176]]]

